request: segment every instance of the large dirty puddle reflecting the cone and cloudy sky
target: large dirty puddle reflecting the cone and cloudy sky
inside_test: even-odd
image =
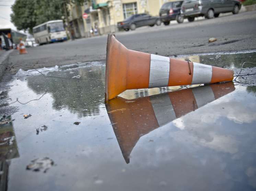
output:
[[[238,73],[255,55],[183,59]],[[104,80],[104,62],[39,71],[72,79],[20,70],[0,83],[2,190],[256,189],[255,75],[129,90],[105,105],[104,82],[79,79]]]

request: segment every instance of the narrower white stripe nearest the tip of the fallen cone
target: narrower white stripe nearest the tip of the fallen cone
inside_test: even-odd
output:
[[[191,84],[210,83],[212,78],[212,66],[193,62],[193,78]]]

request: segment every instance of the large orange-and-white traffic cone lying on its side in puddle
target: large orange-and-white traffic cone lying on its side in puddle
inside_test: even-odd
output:
[[[125,90],[233,80],[229,69],[128,50],[107,39],[105,103]]]

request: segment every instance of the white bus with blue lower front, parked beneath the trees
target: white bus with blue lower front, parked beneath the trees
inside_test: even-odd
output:
[[[62,20],[48,21],[37,25],[33,27],[33,34],[38,44],[67,40],[67,33]]]

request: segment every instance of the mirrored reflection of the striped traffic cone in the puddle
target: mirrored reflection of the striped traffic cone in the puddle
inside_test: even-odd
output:
[[[109,100],[106,109],[125,161],[139,138],[235,90],[234,83],[210,84],[127,100]]]

